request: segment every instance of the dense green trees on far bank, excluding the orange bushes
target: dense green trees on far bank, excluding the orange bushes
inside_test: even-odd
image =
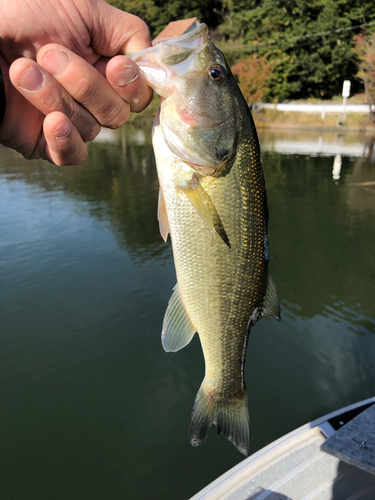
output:
[[[348,78],[354,91],[360,87],[353,52],[360,29],[350,28],[375,21],[372,0],[224,0],[224,6],[223,35],[277,60],[266,100],[331,98]]]

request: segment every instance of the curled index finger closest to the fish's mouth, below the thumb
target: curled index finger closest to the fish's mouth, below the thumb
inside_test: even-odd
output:
[[[152,89],[139,66],[126,56],[116,56],[107,64],[107,78],[115,91],[130,104],[130,110],[145,109],[152,99]]]

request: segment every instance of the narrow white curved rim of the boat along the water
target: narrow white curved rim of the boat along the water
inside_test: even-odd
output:
[[[322,426],[322,424],[331,418],[337,417],[342,413],[355,410],[370,403],[375,403],[375,397],[340,408],[339,410],[328,413],[323,417],[317,418],[316,420],[304,424],[288,434],[285,434],[276,441],[273,441],[264,448],[261,448],[256,453],[234,466],[232,469],[229,469],[229,471],[225,472],[223,475],[191,497],[190,500],[219,500],[220,498],[223,498],[235,489],[239,483],[246,481],[247,478],[254,475],[273,460],[276,460],[279,456],[285,455],[290,449],[295,448],[299,442],[302,443],[305,441],[310,432],[316,432],[316,428],[318,426]],[[320,432],[323,433],[321,429]]]

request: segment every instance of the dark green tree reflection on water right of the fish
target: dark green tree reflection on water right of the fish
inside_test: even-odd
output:
[[[332,156],[265,152],[270,205],[270,266],[282,300],[298,305],[302,317],[338,311],[359,329],[375,332],[375,197],[355,193],[359,168],[375,180],[370,158],[343,157],[341,178],[332,180]],[[364,174],[364,172],[366,172]],[[372,193],[371,193],[372,194]],[[330,308],[330,311],[327,309]],[[358,314],[358,310],[360,313]]]

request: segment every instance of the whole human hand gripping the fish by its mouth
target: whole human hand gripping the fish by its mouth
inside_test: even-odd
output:
[[[0,19],[0,142],[26,158],[81,163],[101,125],[118,128],[151,100],[142,71],[117,55],[150,46],[139,18],[104,0],[2,0]]]

